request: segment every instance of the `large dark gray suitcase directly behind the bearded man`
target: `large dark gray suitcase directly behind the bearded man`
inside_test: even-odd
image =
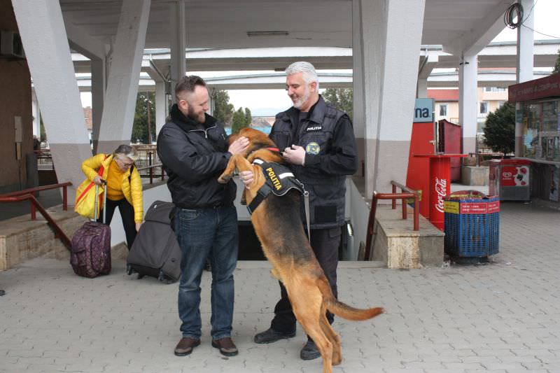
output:
[[[165,283],[174,283],[181,277],[181,248],[169,218],[174,204],[155,201],[146,211],[127,257],[127,273],[138,278],[152,276]]]

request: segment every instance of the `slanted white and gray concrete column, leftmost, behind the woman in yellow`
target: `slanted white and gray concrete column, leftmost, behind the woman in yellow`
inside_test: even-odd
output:
[[[84,178],[80,162],[92,152],[60,4],[29,0],[12,5],[58,181],[73,185],[68,192],[71,204]]]

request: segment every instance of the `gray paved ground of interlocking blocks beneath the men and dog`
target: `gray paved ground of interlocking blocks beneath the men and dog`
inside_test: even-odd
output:
[[[342,262],[341,300],[386,314],[335,320],[344,360],[333,372],[560,372],[559,250],[559,211],[503,202],[490,264],[401,271]],[[178,358],[176,284],[114,265],[92,280],[44,258],[0,272],[0,372],[321,372],[320,359],[299,358],[299,327],[290,340],[252,342],[279,295],[266,262],[239,262],[235,272],[233,358],[210,346],[208,273],[202,344]]]

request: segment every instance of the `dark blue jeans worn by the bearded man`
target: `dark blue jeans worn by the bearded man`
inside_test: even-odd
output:
[[[183,337],[200,339],[202,335],[200,278],[207,258],[212,268],[212,339],[231,337],[235,296],[233,271],[239,247],[235,207],[179,209],[175,228],[182,252],[179,317],[183,321]]]

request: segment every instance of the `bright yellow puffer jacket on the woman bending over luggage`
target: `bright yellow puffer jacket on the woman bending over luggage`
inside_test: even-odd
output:
[[[87,179],[82,184],[89,184],[93,181],[94,177],[97,176],[97,172],[102,165],[105,167],[103,171],[102,178],[107,179],[109,174],[109,167],[111,162],[113,162],[113,155],[109,155],[105,159],[106,155],[103,153],[94,155],[91,158],[82,163],[82,171],[87,177]],[[130,183],[128,181],[128,176],[130,175]],[[127,199],[128,203],[134,208],[134,222],[142,223],[144,220],[144,204],[142,202],[142,180],[140,174],[138,173],[136,167],[130,173],[130,169],[123,172],[123,194]]]

